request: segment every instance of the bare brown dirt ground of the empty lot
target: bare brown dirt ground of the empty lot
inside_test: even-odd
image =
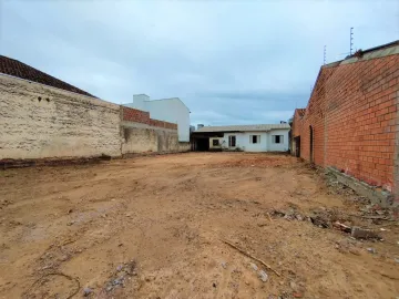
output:
[[[0,298],[399,296],[399,227],[358,217],[367,203],[295,157],[6,169],[0,186]],[[323,215],[383,240],[324,228]]]

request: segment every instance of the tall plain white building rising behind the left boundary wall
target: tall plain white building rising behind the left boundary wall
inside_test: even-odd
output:
[[[123,104],[150,112],[150,117],[177,123],[177,134],[180,142],[190,142],[190,110],[178,97],[150,100],[146,94],[134,94],[133,103]]]

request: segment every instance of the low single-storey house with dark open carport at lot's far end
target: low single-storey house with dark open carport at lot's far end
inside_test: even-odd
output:
[[[203,126],[193,132],[194,151],[286,152],[289,124]]]

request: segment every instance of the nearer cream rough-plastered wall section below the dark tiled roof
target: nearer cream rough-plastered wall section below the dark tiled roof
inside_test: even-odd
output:
[[[0,159],[121,154],[119,105],[0,74]]]

